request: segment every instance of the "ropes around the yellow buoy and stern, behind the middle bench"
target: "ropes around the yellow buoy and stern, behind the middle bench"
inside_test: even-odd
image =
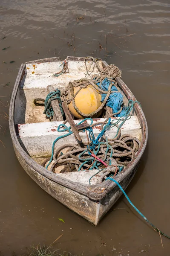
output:
[[[89,67],[89,70],[88,70],[87,65],[86,65],[86,58],[92,59],[91,66],[94,63],[95,66],[100,71],[100,75],[94,74],[91,76],[91,73],[94,71],[95,66],[93,67],[92,72],[89,73],[91,66]],[[43,113],[46,114],[46,118],[49,118],[51,120],[53,117],[54,111],[52,109],[51,101],[55,100],[55,99],[58,99],[61,113],[63,116],[64,116],[64,113],[63,113],[63,109],[61,106],[61,100],[66,102],[67,105],[69,105],[69,103],[72,101],[73,107],[81,116],[92,117],[104,108],[104,106],[107,103],[107,100],[109,99],[110,94],[117,92],[117,91],[112,91],[111,88],[113,85],[115,85],[115,86],[117,85],[117,83],[115,82],[115,78],[121,76],[121,70],[119,70],[118,67],[116,67],[115,65],[109,65],[109,66],[105,67],[104,69],[100,70],[98,63],[97,63],[98,61],[101,61],[100,58],[93,58],[93,57],[86,57],[86,58],[85,58],[86,75],[88,74],[88,76],[90,76],[91,79],[82,78],[82,79],[75,80],[73,82],[69,82],[68,86],[66,87],[66,89],[64,89],[62,91],[62,93],[60,92],[60,90],[56,89],[54,92],[49,93],[46,96],[45,100],[41,99],[41,98],[37,98],[34,100],[34,104],[36,106],[44,106],[45,107]],[[66,73],[66,70],[68,70],[68,72],[69,72],[68,61],[66,61],[66,59],[62,62],[61,65],[63,65],[62,70],[59,73],[55,73],[54,76],[60,76],[63,73]],[[109,88],[108,88],[108,90],[102,90],[100,85],[101,85],[102,81],[104,81],[104,79],[106,79],[106,78],[108,79],[108,81],[110,83]],[[96,90],[100,94],[106,94],[106,96],[105,96],[104,101],[102,102],[101,106],[97,110],[95,110],[91,113],[85,114],[75,104],[75,97],[80,92],[80,90],[82,88],[87,88],[88,86],[92,87],[94,90]],[[74,87],[80,87],[76,93],[74,93]],[[39,103],[40,101],[43,103]]]

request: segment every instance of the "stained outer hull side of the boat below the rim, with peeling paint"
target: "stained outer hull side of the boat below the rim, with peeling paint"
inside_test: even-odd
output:
[[[110,193],[108,193],[102,200],[94,201],[88,197],[82,195],[81,193],[75,192],[72,189],[68,189],[43,175],[40,175],[28,163],[23,159],[17,149],[14,147],[15,154],[19,160],[21,166],[26,171],[26,173],[34,180],[43,190],[45,190],[49,195],[59,201],[61,204],[65,205],[73,212],[76,212],[81,217],[85,218],[87,221],[97,226],[101,218],[109,211],[110,208],[115,204],[115,202],[120,198],[122,192],[115,186]],[[124,179],[121,183],[123,189],[126,189],[130,181],[133,179],[135,172],[137,171],[138,165],[133,169],[133,173]]]

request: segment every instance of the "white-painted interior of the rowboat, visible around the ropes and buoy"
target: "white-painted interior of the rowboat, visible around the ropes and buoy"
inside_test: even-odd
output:
[[[17,138],[23,150],[39,164],[42,164],[43,160],[47,157],[51,157],[52,144],[57,137],[61,136],[61,133],[58,132],[58,126],[63,121],[50,121],[50,119],[47,119],[46,115],[43,114],[44,107],[36,106],[34,100],[37,98],[46,99],[48,94],[47,86],[49,85],[62,90],[67,86],[69,81],[84,78],[86,75],[84,58],[67,57],[66,60],[68,61],[69,73],[64,73],[58,77],[55,77],[54,74],[61,71],[60,58],[51,58],[50,61],[38,60],[26,63],[25,74],[17,91],[14,108],[14,124],[17,131]],[[100,69],[103,69],[103,62],[98,61],[98,66]],[[99,74],[98,68],[90,60],[87,61],[87,67],[91,69],[89,70],[91,74]],[[118,90],[124,95],[124,104],[126,105],[128,102],[127,96],[119,85]],[[113,117],[115,120],[118,118]],[[98,120],[104,121],[105,116],[99,116],[93,122],[98,122]],[[74,122],[78,124],[80,120],[75,119]],[[69,126],[68,123],[66,125]],[[95,137],[100,133],[100,129],[100,126],[93,128]],[[112,127],[110,131],[106,132],[106,135],[108,138],[112,138],[116,132],[117,128]],[[67,131],[62,134],[65,133]],[[135,111],[133,111],[131,118],[124,122],[124,125],[121,127],[121,134],[131,134],[133,137],[141,140],[141,125]],[[85,131],[81,131],[80,136],[83,143],[87,143]],[[62,145],[62,143],[68,140],[75,144],[78,143],[74,134],[71,134],[69,137],[58,140],[57,145]],[[61,175],[66,179],[84,184],[89,184],[89,177],[96,173],[96,169],[88,170],[88,172],[62,172],[62,168],[62,166],[56,168],[56,175]],[[98,177],[94,177],[91,183],[97,184]]]

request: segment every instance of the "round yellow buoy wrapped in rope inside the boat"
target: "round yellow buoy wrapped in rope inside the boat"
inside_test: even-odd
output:
[[[80,87],[74,87],[74,93],[78,91]],[[97,110],[101,106],[101,94],[99,94],[95,89],[91,87],[81,88],[80,92],[75,96],[75,105],[77,108],[85,113],[89,114]],[[73,107],[72,102],[69,104],[69,110],[72,112],[73,116],[78,119],[84,119]],[[92,116],[92,118],[97,118],[101,115],[101,111]]]

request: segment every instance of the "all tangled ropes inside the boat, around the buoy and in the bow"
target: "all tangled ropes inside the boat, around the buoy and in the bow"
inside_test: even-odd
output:
[[[123,108],[123,106],[121,106],[121,109],[117,113],[113,113],[112,115],[107,117],[107,119],[105,119],[104,122],[93,123],[93,119],[91,119],[91,117],[94,116],[95,113],[101,111],[102,108],[104,108],[111,93],[117,92],[112,91],[111,88],[113,85],[116,86],[115,78],[121,77],[121,70],[119,70],[118,67],[116,67],[115,65],[109,65],[104,69],[100,70],[97,63],[99,59],[92,58],[92,60],[93,61],[91,63],[91,66],[92,64],[94,64],[92,72],[94,71],[94,68],[96,66],[100,74],[92,75],[92,72],[89,73],[91,66],[88,70],[85,59],[86,75],[88,75],[90,79],[82,78],[75,80],[73,82],[69,82],[66,89],[64,89],[62,92],[60,92],[60,90],[55,90],[55,92],[49,93],[44,101],[45,108],[43,112],[46,113],[46,116],[48,118],[52,119],[54,112],[52,109],[51,101],[54,99],[58,99],[61,112],[64,115],[61,102],[66,102],[66,104],[68,105],[72,101],[75,110],[81,116],[85,117],[85,119],[82,120],[79,124],[82,124],[87,120],[90,120],[91,122],[88,128],[82,128],[81,130],[86,131],[87,143],[84,143],[84,145],[75,145],[75,143],[65,143],[55,148],[55,143],[58,140],[73,134],[71,127],[66,126],[67,120],[65,120],[62,125],[59,125],[58,132],[67,131],[67,133],[56,138],[52,145],[52,156],[49,159],[46,159],[42,165],[46,166],[46,169],[48,169],[48,166],[51,164],[50,170],[52,172],[55,172],[55,168],[59,166],[64,166],[63,172],[79,172],[83,170],[88,171],[96,169],[98,173],[103,171],[101,175],[102,182],[103,178],[107,178],[107,176],[110,175],[111,173],[114,175],[113,177],[115,177],[115,175],[117,175],[118,172],[121,172],[121,170],[124,169],[124,167],[126,167],[133,160],[136,152],[138,151],[138,148],[140,147],[140,141],[137,138],[132,137],[130,134],[121,135],[121,126],[132,114],[133,106],[137,101],[129,101],[128,106],[126,106],[125,116],[111,120],[112,116],[115,116],[121,112]],[[68,63],[64,61],[62,64],[63,69],[60,73],[56,73],[56,76],[66,72],[66,68],[68,68]],[[101,88],[101,83],[106,78],[109,80],[109,88],[108,90],[103,90]],[[97,92],[100,94],[106,94],[106,96],[101,106],[96,111],[93,111],[89,114],[85,114],[82,113],[76,106],[75,96],[80,92],[82,88],[86,88],[88,86],[92,87],[94,90],[97,90]],[[79,87],[76,93],[74,93],[74,87]],[[35,102],[35,104],[39,103]],[[101,132],[98,134],[97,138],[95,138],[93,128],[99,125],[101,126]],[[117,127],[117,133],[114,138],[109,139],[105,133],[106,131],[109,131],[112,127]],[[62,151],[64,151],[64,154]],[[46,164],[47,162],[48,164]]]

